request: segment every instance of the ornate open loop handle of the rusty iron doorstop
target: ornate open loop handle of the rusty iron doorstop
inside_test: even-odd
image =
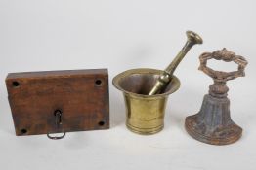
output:
[[[207,60],[209,59],[223,60],[225,62],[233,61],[238,65],[237,71],[215,71],[207,67]],[[244,77],[244,69],[248,64],[247,60],[244,57],[235,55],[233,51],[227,51],[225,48],[221,51],[204,52],[199,56],[199,60],[200,66],[198,69],[203,71],[206,75],[210,76],[212,79],[214,79],[214,81],[217,82],[227,82],[237,77]]]

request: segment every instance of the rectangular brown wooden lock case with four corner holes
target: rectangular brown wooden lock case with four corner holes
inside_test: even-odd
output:
[[[107,69],[10,73],[6,85],[17,135],[109,128]]]

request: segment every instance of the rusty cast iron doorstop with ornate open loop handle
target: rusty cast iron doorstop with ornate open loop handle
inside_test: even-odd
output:
[[[206,66],[207,60],[212,58],[233,61],[238,65],[238,69],[234,72],[215,71]],[[247,61],[226,49],[202,53],[199,59],[199,70],[210,76],[214,84],[209,86],[209,94],[204,96],[199,113],[186,118],[186,130],[194,139],[207,144],[232,144],[241,137],[242,129],[231,119],[230,100],[227,98],[229,88],[226,82],[245,76]]]

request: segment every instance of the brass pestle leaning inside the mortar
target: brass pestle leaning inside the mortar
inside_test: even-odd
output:
[[[193,45],[202,44],[202,38],[192,31],[187,31],[187,42],[164,72],[159,76],[155,85],[151,88],[149,95],[160,93],[171,82],[172,75],[184,56],[191,50]]]

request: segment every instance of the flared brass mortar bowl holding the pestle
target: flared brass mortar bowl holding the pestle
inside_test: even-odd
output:
[[[163,71],[140,68],[120,73],[113,78],[113,85],[124,94],[126,125],[139,134],[154,134],[164,126],[164,114],[168,96],[179,89],[180,81],[173,76],[164,91],[148,95]]]

